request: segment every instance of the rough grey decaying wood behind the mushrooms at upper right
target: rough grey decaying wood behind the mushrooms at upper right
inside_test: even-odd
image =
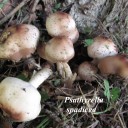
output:
[[[97,31],[102,34],[107,30],[120,43],[128,41],[127,0],[65,0],[65,3],[74,3],[70,14],[81,33],[85,33],[87,28],[96,31],[95,35],[99,34]],[[103,30],[99,29],[101,26]]]

